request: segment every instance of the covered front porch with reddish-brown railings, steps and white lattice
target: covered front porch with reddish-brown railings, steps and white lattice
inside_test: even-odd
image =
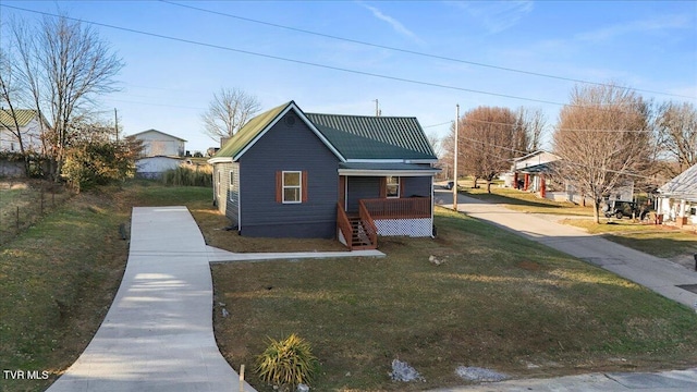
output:
[[[345,164],[339,169],[337,233],[350,249],[377,248],[378,236],[432,236],[430,164]]]

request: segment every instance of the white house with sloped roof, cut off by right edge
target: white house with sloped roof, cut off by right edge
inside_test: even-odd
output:
[[[657,213],[676,225],[697,224],[697,164],[658,188]]]

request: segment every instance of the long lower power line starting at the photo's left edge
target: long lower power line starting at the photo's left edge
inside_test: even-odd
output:
[[[508,95],[508,94],[482,91],[482,90],[476,90],[476,89],[457,87],[457,86],[450,86],[450,85],[432,83],[432,82],[416,81],[416,79],[409,79],[409,78],[405,78],[405,77],[389,76],[389,75],[383,75],[383,74],[378,74],[378,73],[372,73],[372,72],[351,70],[351,69],[345,69],[345,68],[341,68],[341,66],[333,66],[333,65],[315,63],[315,62],[310,62],[310,61],[289,59],[289,58],[283,58],[283,57],[280,57],[280,56],[265,54],[265,53],[254,52],[254,51],[249,51],[249,50],[224,47],[224,46],[221,46],[221,45],[200,42],[200,41],[195,41],[195,40],[192,40],[192,39],[176,38],[176,37],[166,36],[166,35],[162,35],[162,34],[148,33],[148,32],[137,30],[137,29],[134,29],[134,28],[121,27],[121,26],[115,26],[115,25],[106,24],[106,23],[99,23],[99,22],[93,22],[93,21],[86,21],[86,20],[78,20],[78,19],[70,17],[70,16],[61,16],[61,15],[57,15],[57,14],[49,13],[49,12],[35,11],[35,10],[29,10],[29,9],[16,7],[16,5],[8,5],[8,4],[0,3],[0,7],[13,9],[13,10],[19,10],[19,11],[24,11],[24,12],[36,13],[36,14],[46,15],[46,16],[63,17],[63,19],[70,20],[70,21],[87,23],[87,24],[95,25],[95,26],[113,28],[113,29],[118,29],[118,30],[122,30],[122,32],[129,32],[129,33],[133,33],[133,34],[139,34],[139,35],[145,35],[145,36],[150,36],[150,37],[156,37],[156,38],[178,41],[178,42],[191,44],[191,45],[201,46],[201,47],[206,47],[206,48],[225,50],[225,51],[243,53],[243,54],[248,54],[248,56],[255,56],[255,57],[260,57],[260,58],[266,58],[266,59],[280,60],[280,61],[284,61],[284,62],[309,65],[309,66],[315,66],[315,68],[320,68],[320,69],[326,69],[326,70],[346,72],[346,73],[352,73],[352,74],[356,74],[356,75],[371,76],[371,77],[377,77],[377,78],[383,78],[383,79],[389,79],[389,81],[409,83],[409,84],[421,85],[421,86],[445,88],[445,89],[457,90],[457,91],[481,94],[481,95],[488,95],[488,96],[493,96],[493,97],[517,99],[517,100],[538,102],[538,103],[547,103],[547,105],[562,106],[562,107],[563,106],[573,106],[573,105],[561,103],[561,102],[555,102],[555,101],[549,101],[549,100],[543,100],[543,99],[535,99],[535,98],[518,97],[518,96],[513,96],[513,95]]]

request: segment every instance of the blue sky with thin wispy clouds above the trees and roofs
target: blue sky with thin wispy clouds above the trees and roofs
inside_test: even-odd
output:
[[[462,112],[480,105],[524,106],[542,109],[551,132],[574,82],[474,63],[612,81],[639,89],[647,99],[697,105],[697,1],[176,3],[218,14],[160,1],[0,0],[0,4],[60,11],[84,22],[225,48],[95,26],[126,64],[119,76],[123,89],[101,97],[103,109],[119,110],[126,134],[160,130],[187,139],[192,151],[216,145],[201,132],[200,113],[221,87],[257,96],[262,110],[295,100],[306,112],[372,115],[378,99],[382,115],[416,117],[428,133],[440,136],[449,132],[455,103]],[[41,17],[0,8],[3,22],[13,14]]]

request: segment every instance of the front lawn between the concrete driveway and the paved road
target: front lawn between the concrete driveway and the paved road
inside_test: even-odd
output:
[[[381,259],[213,266],[221,352],[249,369],[267,336],[296,332],[322,364],[321,391],[463,384],[460,365],[540,377],[697,364],[692,309],[463,215],[439,209],[437,225],[437,240],[380,238]],[[394,358],[427,382],[390,381]]]

